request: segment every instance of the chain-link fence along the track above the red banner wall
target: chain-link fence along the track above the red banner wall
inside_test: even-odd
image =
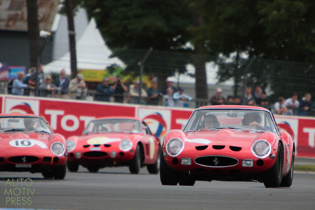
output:
[[[56,49],[53,51],[56,52]],[[220,103],[244,103],[242,98],[244,98],[246,87],[252,88],[252,95],[255,88],[259,86],[261,91],[266,92],[266,100],[269,103],[264,106],[268,109],[272,109],[273,104],[281,96],[285,99],[290,98],[292,93],[296,92],[298,101],[301,103],[306,93],[313,96],[315,94],[315,67],[311,63],[258,58],[249,60],[237,55],[231,58],[216,58],[187,52],[162,52],[154,49],[115,49],[114,52],[112,54],[104,47],[77,47],[78,74],[79,77],[82,75],[83,80],[70,79],[67,90],[61,90],[58,87],[50,90],[51,85],[49,84],[60,86],[64,83],[64,80],[59,78],[62,69],[65,70],[67,77],[71,74],[69,53],[64,53],[58,58],[54,58],[54,55],[49,53],[43,54],[43,61],[51,60],[51,62],[43,63],[43,76],[40,78],[40,83],[44,85],[40,85],[38,82],[36,88],[28,84],[29,87],[25,89],[25,94],[196,108]],[[20,60],[28,60],[27,56],[23,56],[23,53],[19,52],[19,58],[13,57],[7,61],[2,57],[4,60],[0,60],[0,62],[6,62],[8,67],[23,65]],[[47,58],[49,56],[51,56],[50,59]],[[30,67],[27,64],[24,66],[26,67],[25,74],[30,74]],[[4,72],[3,68],[1,68],[1,72]],[[47,75],[50,76],[51,81],[50,83],[47,81],[45,86]],[[36,80],[35,75],[29,76],[31,76],[30,80]],[[107,80],[103,80],[103,78]],[[10,80],[12,79],[14,78],[11,77]],[[9,83],[10,80],[1,80],[2,93],[12,93],[13,84]],[[80,83],[83,84],[83,81],[85,87],[78,86]],[[167,84],[169,84],[168,88]],[[139,96],[140,88],[143,89],[140,91],[141,97]],[[215,99],[218,100],[212,100],[215,95],[217,95]],[[223,102],[219,102],[220,96],[224,97]],[[227,101],[227,98],[230,100]],[[311,102],[308,103],[312,104],[310,110],[314,109]],[[258,102],[253,104],[260,105]],[[293,109],[296,114],[298,107]],[[312,112],[309,113],[309,115],[312,114]]]

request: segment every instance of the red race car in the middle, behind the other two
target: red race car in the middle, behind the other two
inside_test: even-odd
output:
[[[147,166],[150,174],[158,174],[160,141],[152,135],[148,125],[138,118],[99,118],[92,120],[82,136],[67,139],[70,172],[79,165],[89,172],[107,166],[129,166],[138,174]]]

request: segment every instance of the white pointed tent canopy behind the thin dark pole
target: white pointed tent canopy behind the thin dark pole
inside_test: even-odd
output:
[[[76,43],[77,68],[104,70],[114,64],[125,67],[125,63],[118,58],[109,58],[111,54],[111,50],[105,45],[102,35],[96,28],[95,19],[91,19],[82,37]],[[45,74],[59,73],[61,69],[64,69],[66,74],[71,74],[69,53],[44,65]]]

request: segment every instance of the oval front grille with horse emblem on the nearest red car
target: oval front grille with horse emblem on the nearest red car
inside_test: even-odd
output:
[[[225,156],[203,156],[196,157],[195,163],[201,166],[208,167],[229,167],[238,164],[238,160],[232,157]]]

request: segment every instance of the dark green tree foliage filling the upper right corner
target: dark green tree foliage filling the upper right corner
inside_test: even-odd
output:
[[[246,78],[248,86],[271,83],[274,92],[284,96],[288,96],[287,90],[298,90],[301,84],[294,83],[296,78],[307,82],[308,88],[314,83],[313,66],[297,71],[287,64],[270,62],[315,61],[314,0],[200,0],[197,6],[204,18],[199,38],[205,40],[208,52],[218,57],[220,81],[234,78],[235,89]],[[244,52],[248,59],[240,57]],[[222,59],[231,54],[231,61]],[[253,56],[257,59],[245,72]],[[280,78],[288,77],[286,84],[277,85]]]

